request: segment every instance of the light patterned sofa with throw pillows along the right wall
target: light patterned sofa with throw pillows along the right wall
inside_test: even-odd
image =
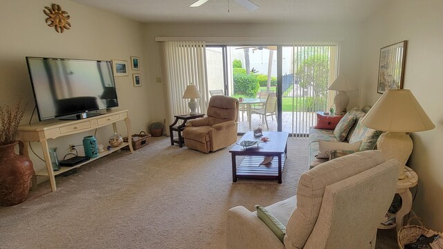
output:
[[[316,129],[314,127],[310,127],[309,169],[316,167],[320,163],[325,163],[327,160],[329,160],[330,156],[334,156],[336,154],[343,155],[356,151],[375,149],[377,139],[382,132],[375,131],[374,129],[370,129],[361,124],[361,118],[368,113],[369,109],[370,107],[365,106],[362,109],[355,107],[354,109],[348,111],[345,116],[341,118],[340,122],[338,122],[335,129]],[[343,144],[332,142],[347,142],[350,144],[350,146],[344,145],[345,147],[353,147],[352,145],[355,146],[352,149],[343,149]],[[324,146],[320,146],[320,143],[322,143]],[[336,149],[334,149],[334,146],[336,146]],[[327,158],[325,158],[325,156],[318,156],[318,154],[323,154],[323,151],[325,149],[327,150],[327,148],[329,148],[328,151],[325,151]],[[330,150],[331,148],[332,150]]]

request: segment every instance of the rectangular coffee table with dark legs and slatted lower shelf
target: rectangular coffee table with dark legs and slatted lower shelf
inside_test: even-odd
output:
[[[270,138],[269,142],[260,142],[251,147],[239,145],[243,140],[260,140],[255,138],[252,131],[244,133],[237,144],[230,148],[229,152],[233,161],[233,182],[237,178],[249,178],[259,180],[278,180],[282,183],[282,170],[284,160],[287,157],[287,142],[289,133],[285,131],[264,131],[264,137]],[[245,156],[237,166],[237,156]],[[273,156],[271,163],[260,165],[265,156]]]

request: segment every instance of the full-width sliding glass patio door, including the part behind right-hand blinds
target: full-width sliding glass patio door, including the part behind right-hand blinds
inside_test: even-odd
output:
[[[338,46],[207,46],[206,64],[210,95],[240,100],[239,133],[262,125],[307,136],[316,111],[332,106]]]

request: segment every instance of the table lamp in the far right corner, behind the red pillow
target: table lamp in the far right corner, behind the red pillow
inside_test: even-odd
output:
[[[347,104],[349,104],[349,96],[346,91],[358,90],[346,75],[338,75],[338,77],[329,86],[329,90],[338,91],[334,98],[335,113],[338,115],[345,114]]]

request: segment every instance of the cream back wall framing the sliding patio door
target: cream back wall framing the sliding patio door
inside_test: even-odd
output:
[[[263,41],[254,37],[264,37],[266,42],[278,44],[341,42],[341,72],[350,75],[359,85],[362,54],[360,28],[361,24],[147,24],[145,46],[151,62],[147,74],[152,77],[150,82],[154,82],[154,77],[161,77],[159,45],[154,41],[155,37],[218,37],[220,40],[230,37],[228,42],[237,45],[248,45],[239,42],[242,37],[259,44]],[[151,104],[163,103],[163,84],[152,83],[150,87]],[[351,98],[349,107],[352,108],[359,102],[359,91],[348,94]],[[153,111],[154,120],[165,118],[163,107]]]

